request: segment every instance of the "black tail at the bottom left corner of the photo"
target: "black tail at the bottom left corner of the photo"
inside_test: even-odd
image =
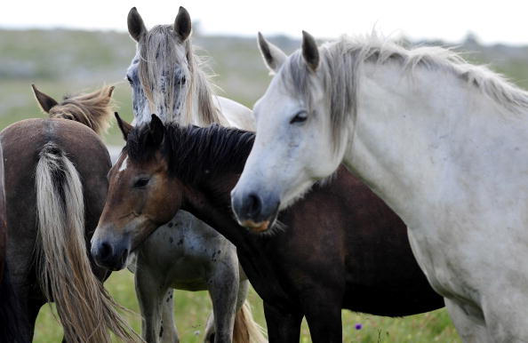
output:
[[[0,342],[25,342],[20,328],[21,312],[12,288],[11,275],[4,261],[4,276],[0,281]],[[27,333],[26,333],[27,334]]]

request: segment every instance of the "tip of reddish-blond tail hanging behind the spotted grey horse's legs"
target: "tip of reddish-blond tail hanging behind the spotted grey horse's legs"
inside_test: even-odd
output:
[[[264,329],[253,320],[252,308],[247,300],[236,311],[233,343],[264,343]]]

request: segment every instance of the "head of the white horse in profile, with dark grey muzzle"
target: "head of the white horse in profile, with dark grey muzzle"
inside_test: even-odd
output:
[[[256,140],[231,193],[233,210],[246,227],[273,224],[278,211],[332,175],[345,152],[346,115],[353,106],[343,96],[332,97],[332,87],[347,83],[334,80],[308,33],[300,52],[288,58],[260,35],[259,44],[276,76],[255,104]]]

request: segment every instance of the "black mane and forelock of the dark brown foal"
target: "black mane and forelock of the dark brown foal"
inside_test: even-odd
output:
[[[226,172],[240,173],[249,156],[253,132],[226,128],[164,125],[161,149],[151,143],[148,124],[134,128],[126,141],[128,156],[134,162],[147,162],[160,150],[168,160],[169,174],[184,182],[212,178]]]

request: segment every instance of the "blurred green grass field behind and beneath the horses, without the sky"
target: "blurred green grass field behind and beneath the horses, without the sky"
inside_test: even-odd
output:
[[[298,41],[276,37],[272,41],[292,52]],[[220,94],[248,107],[265,91],[268,71],[260,61],[254,39],[237,37],[198,37],[195,41],[211,55],[212,68],[219,75],[214,82]],[[425,43],[427,44],[427,43]],[[528,48],[504,45],[481,46],[466,42],[461,50],[472,52],[471,60],[491,63],[517,84],[528,87]],[[131,92],[123,82],[132,59],[134,44],[124,34],[65,30],[0,30],[0,128],[27,117],[42,116],[30,90],[39,89],[57,100],[68,92],[92,91],[101,84],[116,84],[115,99],[119,113],[132,120]],[[114,125],[105,137],[108,144],[122,144]],[[124,307],[138,313],[133,275],[128,271],[113,274],[108,290]],[[262,304],[252,291],[253,315],[265,326]],[[42,308],[36,323],[35,342],[59,342],[60,325],[50,306]],[[182,342],[203,339],[204,323],[211,309],[206,292],[177,291],[175,317]],[[127,315],[132,327],[140,331],[138,315]],[[346,342],[458,342],[460,339],[444,309],[405,318],[386,318],[343,311],[343,340]],[[356,323],[362,324],[356,330]],[[306,323],[302,342],[309,342]]]

